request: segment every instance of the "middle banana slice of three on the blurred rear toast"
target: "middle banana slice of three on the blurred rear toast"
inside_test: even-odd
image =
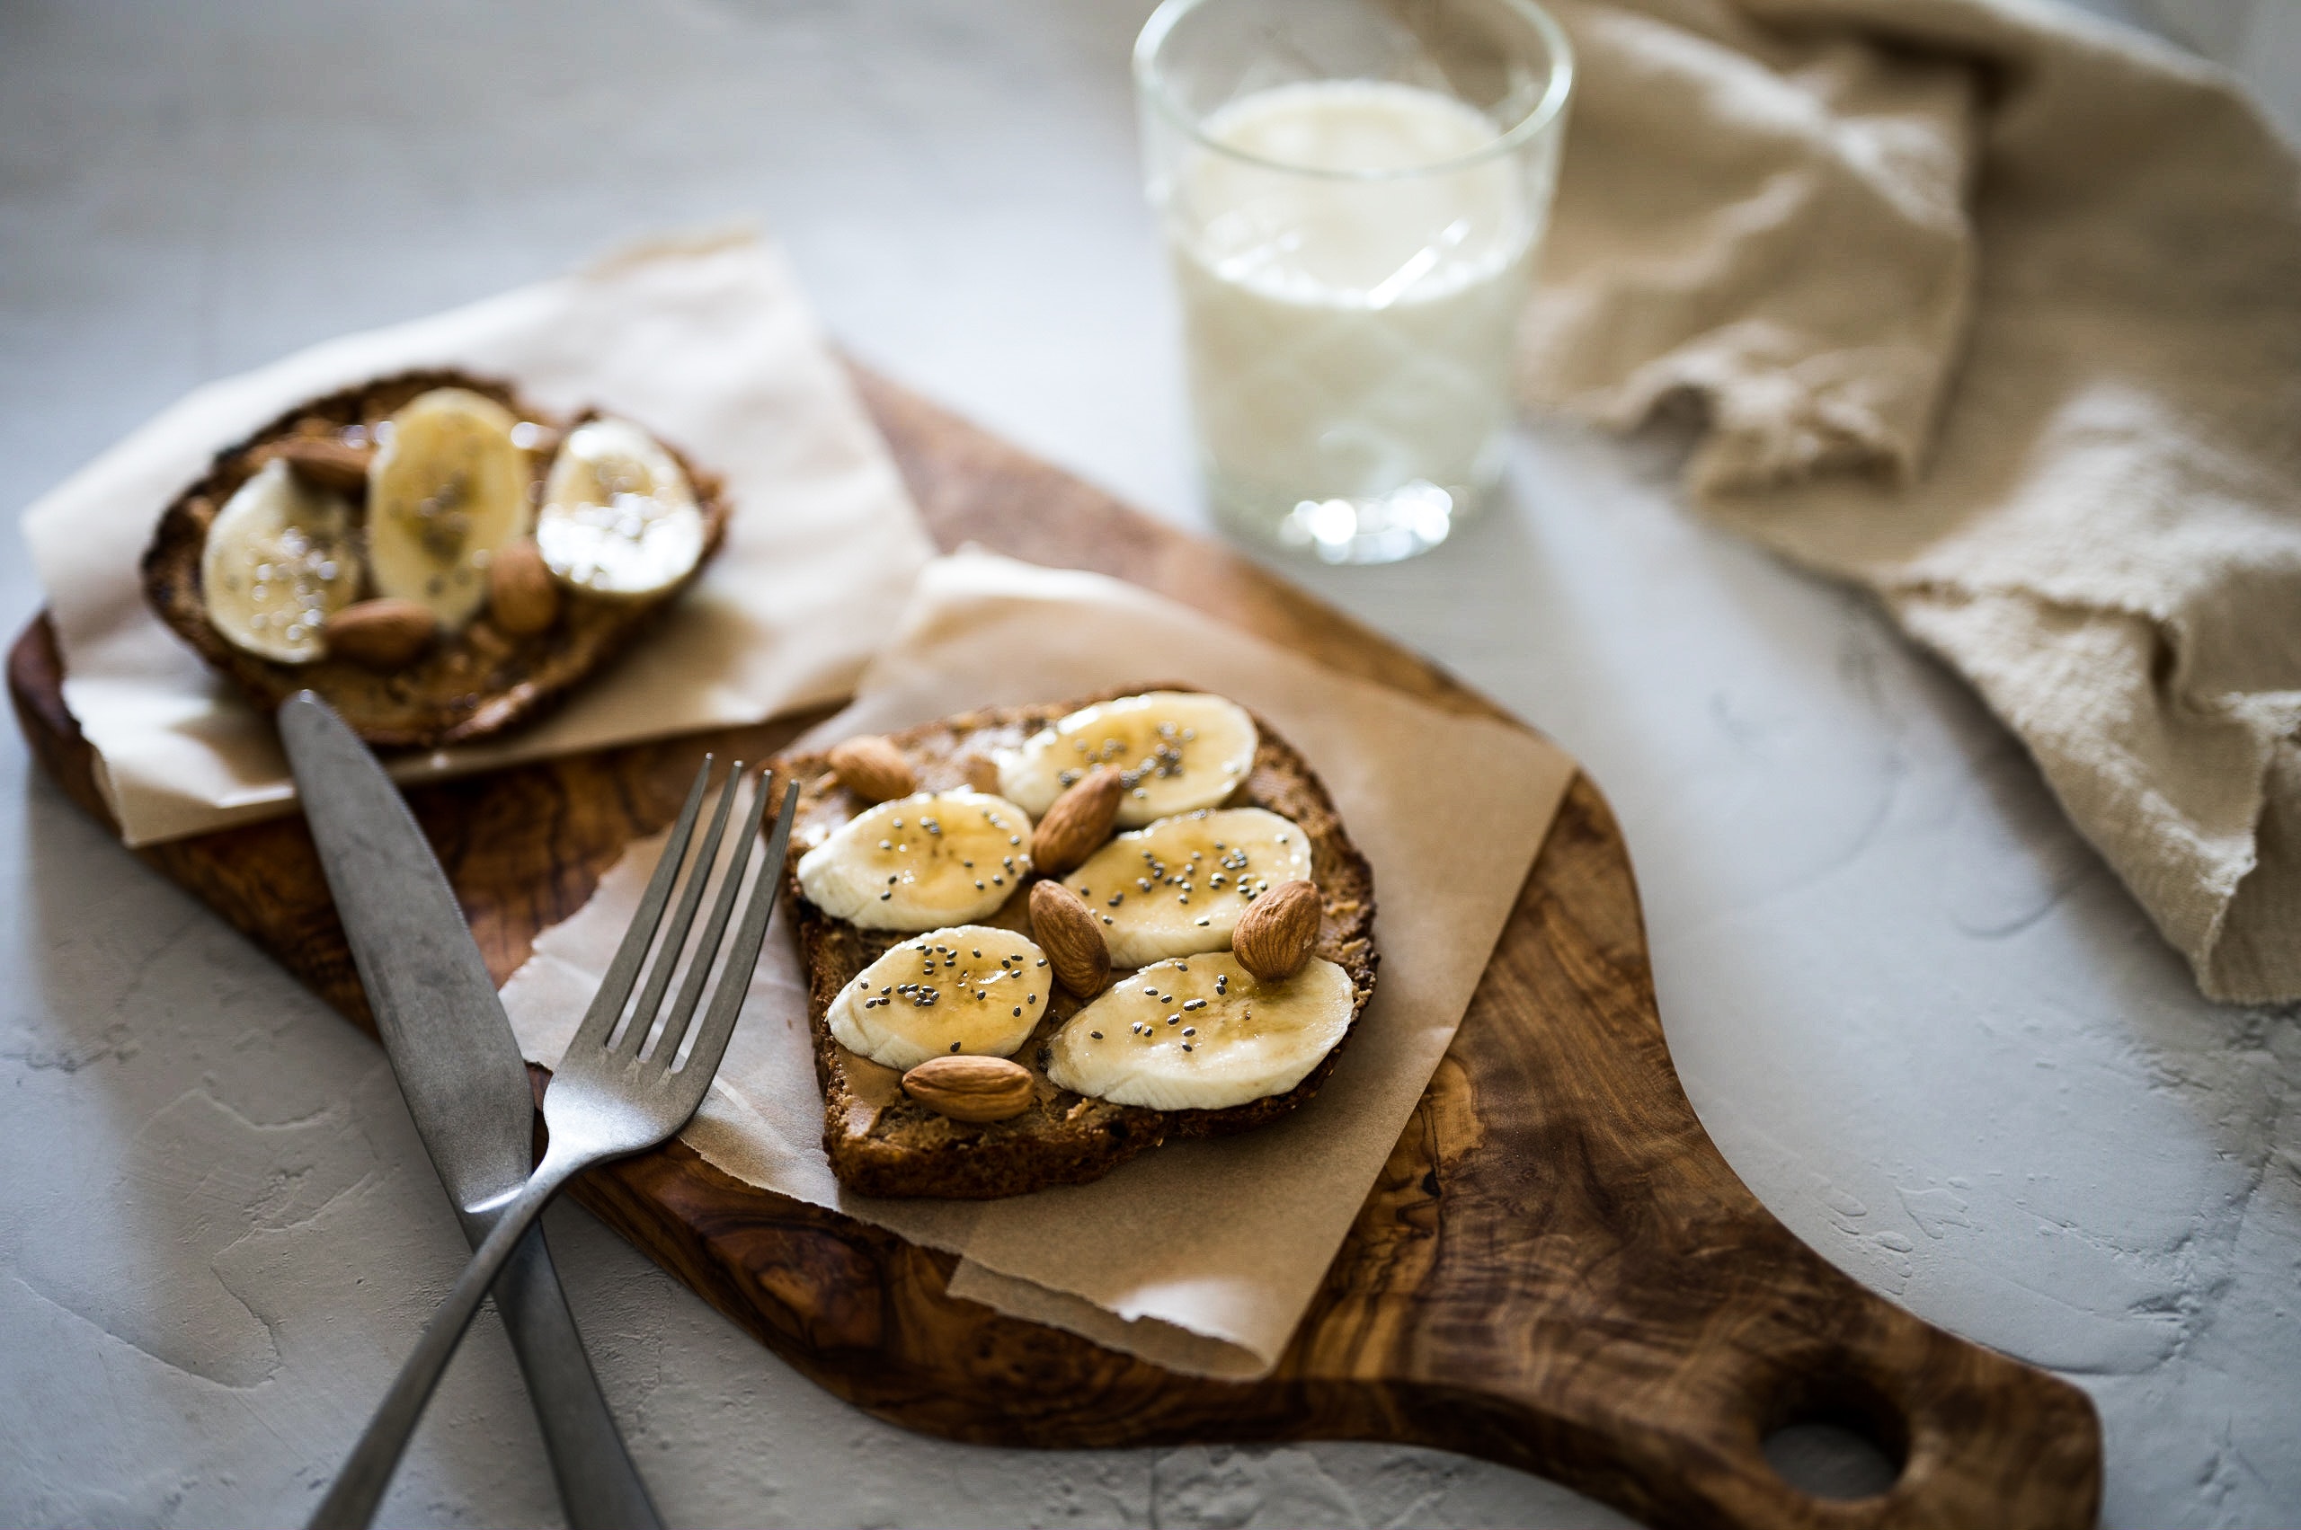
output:
[[[527,453],[511,412],[469,389],[416,393],[368,462],[375,594],[421,600],[449,633],[488,600],[488,559],[527,534]]]

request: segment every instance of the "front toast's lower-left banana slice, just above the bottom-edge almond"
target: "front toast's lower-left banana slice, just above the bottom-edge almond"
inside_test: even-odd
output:
[[[1012,1056],[1047,1012],[1047,957],[989,925],[930,930],[863,969],[831,1001],[831,1035],[888,1068],[932,1056]]]

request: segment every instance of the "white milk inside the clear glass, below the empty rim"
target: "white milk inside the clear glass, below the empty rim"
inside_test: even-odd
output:
[[[1440,541],[1500,479],[1546,186],[1392,81],[1259,90],[1201,136],[1167,212],[1217,508],[1335,557]]]

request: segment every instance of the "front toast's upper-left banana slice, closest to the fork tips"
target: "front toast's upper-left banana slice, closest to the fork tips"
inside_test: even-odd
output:
[[[865,930],[989,918],[1029,874],[1029,814],[985,791],[897,796],[798,858],[808,902]]]

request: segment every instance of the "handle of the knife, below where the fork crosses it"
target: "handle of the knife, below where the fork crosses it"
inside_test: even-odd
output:
[[[492,1217],[469,1217],[472,1247],[486,1238]],[[573,1530],[663,1530],[647,1484],[624,1449],[624,1436],[607,1413],[607,1399],[591,1374],[591,1355],[575,1332],[543,1242],[543,1222],[529,1229],[511,1263],[495,1277],[495,1309],[511,1334],[511,1348],[527,1376],[527,1397],[543,1426],[543,1449],[552,1459],[559,1502]]]

